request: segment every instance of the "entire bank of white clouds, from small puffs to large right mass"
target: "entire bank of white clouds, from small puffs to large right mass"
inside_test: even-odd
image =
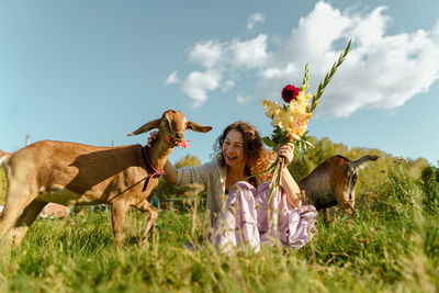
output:
[[[438,79],[439,21],[428,31],[390,35],[392,19],[385,13],[385,7],[340,11],[320,1],[290,35],[272,38],[272,46],[264,34],[198,43],[189,58],[204,72],[190,74],[182,90],[201,105],[209,91],[250,81],[254,87],[243,88],[254,91],[238,95],[239,103],[250,95],[277,99],[284,84],[301,84],[308,63],[314,92],[351,38],[351,52],[327,87],[317,114],[348,116],[359,109],[395,109],[428,91]]]

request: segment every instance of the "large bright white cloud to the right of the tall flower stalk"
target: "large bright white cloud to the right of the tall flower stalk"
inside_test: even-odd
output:
[[[349,116],[364,108],[394,109],[428,91],[438,78],[439,43],[423,30],[385,35],[390,18],[383,11],[376,8],[357,18],[349,29],[356,47],[328,86],[317,109],[320,114]]]

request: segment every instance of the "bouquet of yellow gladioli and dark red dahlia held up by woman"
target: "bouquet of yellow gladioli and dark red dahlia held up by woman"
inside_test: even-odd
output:
[[[308,142],[306,127],[326,86],[329,83],[331,77],[337,71],[337,68],[342,64],[348,55],[350,44],[351,42],[349,41],[345,52],[340,54],[338,61],[333,65],[333,68],[326,75],[325,80],[318,84],[316,94],[306,92],[309,87],[308,65],[306,64],[302,87],[296,88],[292,84],[288,84],[283,88],[282,99],[285,102],[284,104],[281,105],[269,100],[262,101],[266,115],[271,119],[271,125],[274,127],[271,136],[262,138],[267,146],[271,147],[274,151],[278,151],[279,146],[294,143],[295,155],[300,155],[301,150],[305,150],[308,146],[312,146]],[[273,173],[270,183],[271,193],[268,199],[269,203],[271,196],[279,190],[283,165],[284,159],[278,156],[277,160],[270,166],[270,168],[264,170]]]

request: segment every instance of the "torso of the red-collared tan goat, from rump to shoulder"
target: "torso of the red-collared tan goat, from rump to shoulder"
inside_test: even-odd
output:
[[[89,191],[95,196],[105,195],[104,190],[120,191],[145,177],[140,151],[139,145],[97,147],[41,140],[12,154],[7,173],[18,183],[37,190],[57,187],[77,194]]]

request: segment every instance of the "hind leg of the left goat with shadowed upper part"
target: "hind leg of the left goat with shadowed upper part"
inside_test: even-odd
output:
[[[20,245],[27,229],[34,223],[40,212],[46,206],[46,202],[33,201],[24,209],[14,227],[10,232],[10,239],[14,245]]]

